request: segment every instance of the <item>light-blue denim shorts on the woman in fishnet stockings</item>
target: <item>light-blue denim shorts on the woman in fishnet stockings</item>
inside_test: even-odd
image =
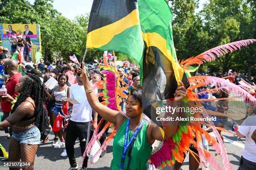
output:
[[[12,137],[18,140],[20,143],[38,145],[40,144],[41,133],[36,126],[33,126],[33,128],[30,128],[24,132],[13,132]]]

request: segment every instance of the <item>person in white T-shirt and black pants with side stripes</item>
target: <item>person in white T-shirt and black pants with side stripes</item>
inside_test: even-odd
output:
[[[79,138],[81,153],[84,153],[90,138],[90,128],[92,120],[92,107],[89,105],[84,92],[83,82],[80,76],[77,76],[77,84],[70,87],[70,97],[75,98],[80,104],[69,103],[69,114],[71,115],[66,129],[66,151],[69,157],[69,170],[78,170],[74,155],[74,143]],[[95,90],[97,92],[97,90]],[[61,156],[64,156],[62,153]],[[82,170],[87,169],[88,157],[85,157],[82,163]]]

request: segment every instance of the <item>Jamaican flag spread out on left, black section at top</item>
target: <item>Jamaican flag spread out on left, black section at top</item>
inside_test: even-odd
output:
[[[87,48],[122,52],[140,64],[143,45],[137,0],[93,1]]]

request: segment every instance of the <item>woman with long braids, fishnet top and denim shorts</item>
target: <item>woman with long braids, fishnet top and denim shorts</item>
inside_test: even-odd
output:
[[[0,122],[0,130],[10,126],[13,130],[8,160],[18,162],[21,159],[30,163],[30,166],[23,168],[24,170],[33,170],[41,137],[37,126],[46,100],[45,86],[37,75],[28,74],[20,78],[15,89],[20,93],[17,101],[10,95],[2,96],[15,104],[10,116]],[[20,168],[10,168],[16,169]]]

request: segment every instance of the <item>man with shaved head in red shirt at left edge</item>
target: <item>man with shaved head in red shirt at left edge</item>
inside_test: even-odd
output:
[[[5,75],[9,75],[9,79],[5,84],[5,88],[7,89],[7,93],[15,98],[19,93],[15,91],[15,86],[19,82],[20,77],[22,77],[21,72],[18,72],[18,64],[15,60],[6,60],[4,64],[4,72]],[[5,120],[6,117],[9,116],[11,111],[12,103],[1,100],[1,109],[3,111],[2,121]],[[5,133],[8,133],[8,130],[5,129]],[[11,135],[11,134],[10,134]]]

